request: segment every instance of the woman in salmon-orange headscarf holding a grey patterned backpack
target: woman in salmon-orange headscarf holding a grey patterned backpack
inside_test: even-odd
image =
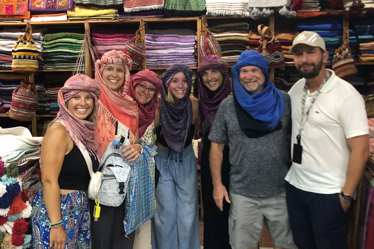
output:
[[[130,139],[131,144],[121,151],[124,160],[134,161],[142,151],[137,134],[138,107],[128,95],[131,63],[128,55],[115,50],[104,53],[95,63],[95,79],[102,92],[96,126],[100,157],[115,135],[125,134]],[[118,207],[100,205],[100,217],[92,222],[93,249],[132,249],[135,234],[124,230],[125,203]],[[93,206],[91,202],[92,213]]]

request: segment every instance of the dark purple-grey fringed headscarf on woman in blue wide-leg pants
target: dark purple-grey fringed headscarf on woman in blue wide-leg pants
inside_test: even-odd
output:
[[[188,89],[178,106],[166,101],[171,78],[178,72],[183,72],[187,79]],[[192,102],[189,98],[192,86],[192,71],[185,64],[174,64],[162,74],[161,89],[161,128],[168,146],[177,152],[182,152],[189,127],[192,124]]]

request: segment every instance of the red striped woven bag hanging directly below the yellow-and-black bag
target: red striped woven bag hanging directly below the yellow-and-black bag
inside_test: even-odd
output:
[[[34,83],[22,80],[13,90],[9,117],[19,121],[31,121],[37,108],[37,89]]]

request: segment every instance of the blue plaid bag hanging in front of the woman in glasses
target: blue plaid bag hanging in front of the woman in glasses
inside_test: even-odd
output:
[[[155,167],[156,154],[156,145],[143,146],[143,154],[132,163],[123,220],[126,234],[140,228],[156,212],[154,171],[150,170]]]

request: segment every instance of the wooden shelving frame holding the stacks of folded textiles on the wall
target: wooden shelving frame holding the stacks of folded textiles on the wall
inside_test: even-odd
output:
[[[340,15],[340,12],[334,12],[330,13],[332,16],[337,16]],[[235,18],[238,21],[247,21],[248,23],[250,22],[262,22],[266,25],[269,26],[270,30],[274,34],[274,31],[277,29],[277,19],[278,17],[270,17],[270,18],[264,18],[261,20],[253,20],[250,18]],[[283,17],[280,17],[280,19]],[[201,31],[204,30],[204,25],[203,22],[206,20],[229,20],[233,18],[228,18],[228,17],[189,17],[189,18],[134,18],[134,19],[121,19],[121,20],[87,20],[87,21],[51,21],[51,22],[31,22],[31,26],[33,28],[37,27],[56,27],[59,29],[69,29],[69,27],[74,26],[77,27],[78,29],[81,29],[82,33],[84,32],[85,29],[88,30],[90,36],[91,36],[91,31],[93,30],[94,27],[99,26],[99,25],[109,25],[109,26],[125,26],[127,27],[137,27],[139,26],[140,22],[143,20],[145,23],[148,23],[149,26],[157,27],[157,25],[161,25],[162,23],[166,24],[170,29],[172,28],[180,28],[178,26],[179,23],[186,24],[189,27],[193,27],[194,30],[197,32],[197,36],[200,36]],[[298,19],[297,17],[295,19]],[[157,23],[157,24],[156,24]],[[175,24],[175,25],[172,25]],[[0,22],[0,27],[3,26],[13,26],[13,27],[19,27],[21,30],[24,26],[26,26],[26,22]],[[176,26],[176,27],[174,27]],[[145,39],[146,37],[146,32],[145,30],[142,30],[141,32],[141,37]],[[199,37],[197,37],[199,38]],[[89,49],[86,48],[85,54],[90,54]],[[200,65],[201,61],[200,58],[198,58],[198,66]],[[327,63],[328,66],[331,66],[331,63]],[[360,65],[374,65],[374,62],[357,62],[357,66]],[[287,68],[294,67],[293,62],[286,62],[285,63],[285,70]],[[147,62],[143,62],[142,64],[143,69],[150,69],[156,71],[159,75],[162,74],[163,71],[165,71],[167,68],[165,67],[158,67],[158,68],[148,68],[147,67]],[[198,67],[191,67],[192,70],[196,70]],[[44,70],[39,70],[39,72],[48,72],[48,73],[58,73],[58,72],[73,72],[74,70],[72,69],[67,69],[67,70],[49,70],[49,69],[44,69]],[[86,56],[85,60],[85,74],[88,75],[89,77],[93,77],[94,74],[94,67],[92,65],[92,58],[90,56]],[[132,71],[133,72],[133,71]],[[2,73],[8,73],[8,74],[13,74],[15,78],[21,79],[24,77],[24,74],[18,74],[14,73],[11,70],[0,70],[0,74]],[[270,80],[274,81],[275,77],[275,69],[271,68],[270,69]],[[30,74],[30,77],[33,79],[34,74]],[[8,114],[0,114],[0,118],[5,118],[8,117]],[[35,115],[31,125],[32,125],[32,134],[33,136],[37,136],[40,134],[37,134],[37,119],[39,118],[53,118],[55,115]]]

